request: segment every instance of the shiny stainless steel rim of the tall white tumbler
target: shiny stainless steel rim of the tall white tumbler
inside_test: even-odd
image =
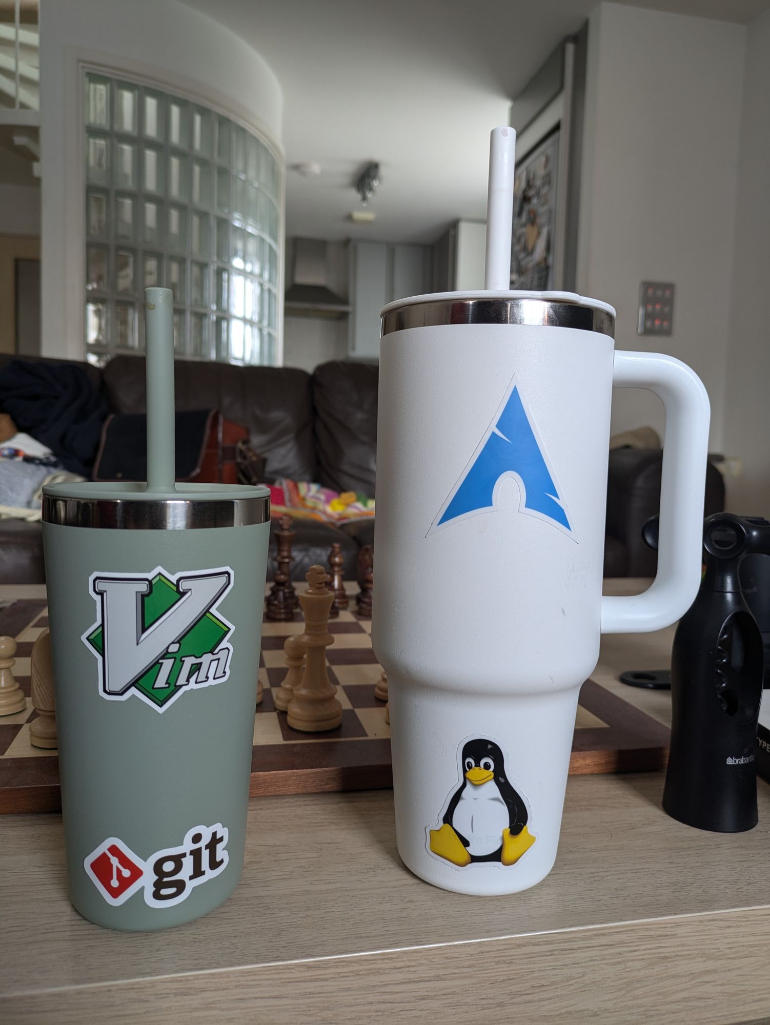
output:
[[[551,299],[495,297],[406,302],[381,318],[381,337],[412,327],[447,324],[529,324],[571,327],[615,336],[615,318],[597,306]]]

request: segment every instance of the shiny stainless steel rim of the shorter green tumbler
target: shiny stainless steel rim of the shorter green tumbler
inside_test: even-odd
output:
[[[270,520],[270,498],[58,498],[43,495],[43,523],[97,530],[204,530]]]

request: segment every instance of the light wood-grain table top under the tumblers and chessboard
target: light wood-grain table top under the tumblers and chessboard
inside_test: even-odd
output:
[[[35,594],[0,588],[9,597]],[[665,667],[672,637],[605,637],[594,678],[627,698],[617,672]],[[667,692],[635,695],[667,723]],[[149,934],[99,929],[71,907],[59,815],[6,816],[0,1020],[759,1020],[770,1012],[770,789],[760,782],[760,824],[741,834],[675,822],[661,790],[660,773],[571,777],[554,870],[496,898],[413,876],[390,791],[255,799],[233,897]]]

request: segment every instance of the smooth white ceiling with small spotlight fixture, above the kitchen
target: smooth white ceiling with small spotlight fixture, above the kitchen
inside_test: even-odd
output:
[[[483,219],[489,130],[596,0],[185,0],[256,49],[284,95],[286,233],[433,242]],[[637,4],[747,22],[770,0]],[[348,219],[369,161],[374,223]],[[318,177],[291,165],[317,161]]]

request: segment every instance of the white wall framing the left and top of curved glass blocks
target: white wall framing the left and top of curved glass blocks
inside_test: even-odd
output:
[[[282,93],[242,39],[175,0],[43,0],[40,12],[43,354],[83,358],[83,61],[154,79],[280,149]]]

